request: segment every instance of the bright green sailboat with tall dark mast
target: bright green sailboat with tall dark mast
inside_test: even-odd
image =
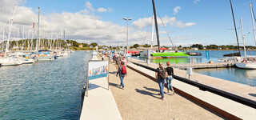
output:
[[[155,25],[155,30],[156,30],[156,34],[157,34],[157,40],[158,40],[158,52],[152,53],[152,56],[154,58],[171,58],[171,57],[176,57],[176,58],[186,58],[189,57],[188,54],[186,54],[185,52],[179,52],[179,51],[164,51],[162,50],[161,52],[161,48],[160,48],[160,42],[159,42],[159,34],[158,34],[158,19],[157,19],[157,15],[156,15],[156,9],[154,6],[154,0],[152,0],[153,3],[153,10],[154,10],[154,25]]]

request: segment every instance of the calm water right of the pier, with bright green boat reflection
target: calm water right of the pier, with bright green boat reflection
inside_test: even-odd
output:
[[[202,63],[202,62],[209,62],[209,59],[206,59],[206,52],[205,51],[194,51],[200,52],[202,56],[196,57],[189,57],[189,58],[166,58],[166,59],[154,59],[152,62],[154,63],[166,63],[170,62],[171,64],[178,64],[178,63]],[[231,50],[211,50],[210,51],[210,60],[214,62],[218,62],[218,59],[223,58],[223,54],[230,54],[237,51]],[[241,52],[242,56],[244,52]],[[256,51],[247,51],[246,54],[248,55],[256,55]],[[145,58],[138,58],[145,60]],[[249,86],[256,86],[256,70],[242,70],[238,68],[218,68],[218,69],[199,69],[194,70],[194,72],[200,74],[206,74],[216,78],[226,79],[231,82],[238,82],[242,84],[246,84]]]

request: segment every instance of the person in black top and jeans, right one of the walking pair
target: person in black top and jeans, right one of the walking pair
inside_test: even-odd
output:
[[[171,80],[174,77],[174,69],[170,66],[170,62],[166,62],[166,65],[167,65],[167,67],[166,67],[166,72],[167,72],[166,83],[167,83],[168,93],[169,93],[169,90],[172,90],[172,93],[175,94],[174,88],[171,85]]]

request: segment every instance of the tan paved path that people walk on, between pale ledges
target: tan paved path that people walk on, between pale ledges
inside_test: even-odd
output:
[[[110,72],[114,71],[116,71],[116,67],[112,64]],[[127,73],[124,90],[118,87],[119,78],[115,74],[110,74],[110,89],[114,94],[122,119],[222,119],[178,94],[165,94],[165,100],[162,101],[158,83],[134,70],[127,69]]]

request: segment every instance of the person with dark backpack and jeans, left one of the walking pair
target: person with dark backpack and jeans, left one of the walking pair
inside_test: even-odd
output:
[[[158,85],[160,88],[160,94],[162,96],[162,100],[164,100],[163,87],[166,79],[166,69],[162,67],[162,63],[159,63],[159,67],[155,72],[155,77],[158,79]]]

